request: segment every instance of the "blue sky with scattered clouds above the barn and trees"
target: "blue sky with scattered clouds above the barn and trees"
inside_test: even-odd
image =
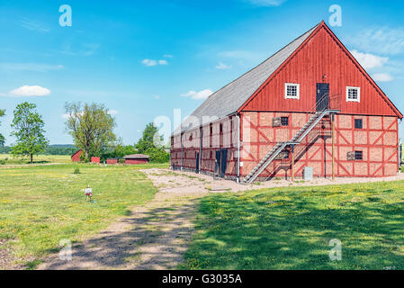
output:
[[[72,8],[71,27],[59,25],[61,4]],[[13,109],[28,101],[51,144],[72,143],[64,103],[99,102],[133,144],[157,116],[181,108],[184,118],[211,91],[328,23],[331,4],[342,8],[342,26],[331,29],[404,112],[401,1],[2,0],[0,133],[13,143]]]

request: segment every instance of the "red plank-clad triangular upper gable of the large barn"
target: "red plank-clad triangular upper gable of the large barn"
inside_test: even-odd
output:
[[[329,94],[341,97],[341,113],[397,116],[380,89],[346,54],[327,26],[320,26],[314,33],[243,111],[309,112],[316,103],[316,84],[329,83]],[[285,99],[285,83],[300,84],[300,100]],[[361,87],[360,103],[346,102],[346,86]]]

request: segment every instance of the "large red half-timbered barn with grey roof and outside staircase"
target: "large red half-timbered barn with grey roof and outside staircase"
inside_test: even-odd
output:
[[[171,165],[251,183],[396,175],[401,112],[322,22],[225,85],[171,138]]]

